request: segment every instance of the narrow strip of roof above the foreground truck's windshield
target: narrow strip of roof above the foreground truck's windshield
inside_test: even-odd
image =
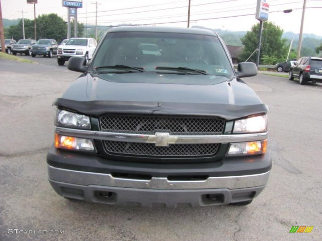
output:
[[[217,36],[215,32],[207,29],[163,26],[118,26],[111,28],[109,32],[170,32]]]

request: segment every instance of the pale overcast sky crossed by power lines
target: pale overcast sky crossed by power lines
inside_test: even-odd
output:
[[[33,4],[26,2],[26,0],[1,0],[3,18],[21,18],[22,14],[17,11],[23,10],[26,12],[24,13],[25,18],[33,19]],[[95,4],[92,4],[93,2],[96,0],[83,0],[83,8],[78,9],[79,22],[95,24]],[[187,26],[188,0],[98,0],[98,3],[99,25],[132,23]],[[191,0],[190,26],[249,31],[251,26],[258,22],[255,19],[256,3],[257,0]],[[303,0],[268,0],[268,3],[270,11],[274,12],[269,14],[269,21],[279,25],[285,32],[298,33],[300,31]],[[322,0],[307,0],[306,7],[303,32],[322,36],[320,27]],[[293,11],[283,13],[286,9],[293,9]],[[62,0],[38,0],[36,15],[48,13],[57,13],[64,20],[67,19],[67,8],[62,7]],[[254,15],[236,16],[247,14]],[[209,18],[217,19],[202,20]]]

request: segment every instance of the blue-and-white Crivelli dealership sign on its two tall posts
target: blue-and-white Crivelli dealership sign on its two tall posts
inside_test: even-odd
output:
[[[74,16],[74,37],[77,38],[77,8],[83,7],[83,0],[62,0],[67,7],[67,39],[71,38],[71,16]]]

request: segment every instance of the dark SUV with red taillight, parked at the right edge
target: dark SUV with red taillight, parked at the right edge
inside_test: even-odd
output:
[[[322,83],[322,58],[302,57],[289,70],[289,80],[298,78],[301,85],[308,81]]]

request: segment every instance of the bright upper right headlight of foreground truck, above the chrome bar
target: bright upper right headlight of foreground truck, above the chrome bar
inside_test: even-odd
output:
[[[235,121],[232,132],[250,133],[264,131],[267,131],[267,114]]]

